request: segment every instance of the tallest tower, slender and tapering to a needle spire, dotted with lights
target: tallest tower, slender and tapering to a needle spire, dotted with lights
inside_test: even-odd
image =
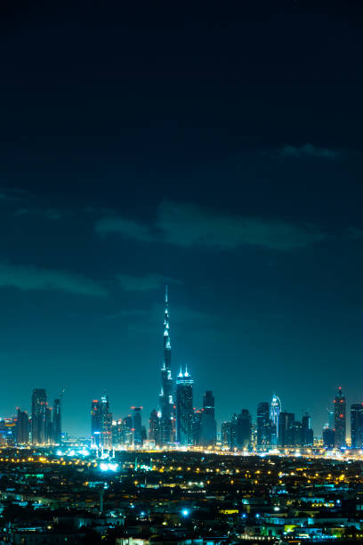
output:
[[[164,313],[164,357],[161,368],[160,403],[160,444],[174,441],[174,410],[173,410],[173,378],[172,378],[172,346],[169,331],[169,302],[167,286],[165,288]]]

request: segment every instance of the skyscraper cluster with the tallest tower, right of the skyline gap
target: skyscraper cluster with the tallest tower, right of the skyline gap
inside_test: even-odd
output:
[[[296,419],[293,412],[282,410],[278,395],[271,402],[257,405],[257,419],[253,422],[248,409],[233,414],[223,422],[217,434],[215,400],[211,390],[203,397],[203,407],[196,409],[193,399],[194,381],[187,367],[181,369],[173,386],[172,345],[167,289],[165,289],[164,351],[161,367],[161,391],[158,409],[151,411],[149,431],[142,425],[142,407],[132,407],[124,419],[113,420],[106,394],[101,402],[92,402],[92,446],[109,450],[118,446],[214,446],[219,443],[230,451],[268,451],[275,448],[312,447],[314,441],[311,416],[306,412]],[[339,388],[334,411],[323,429],[322,443],[327,449],[342,449],[346,441],[345,396]],[[363,404],[351,405],[351,448],[363,446]]]

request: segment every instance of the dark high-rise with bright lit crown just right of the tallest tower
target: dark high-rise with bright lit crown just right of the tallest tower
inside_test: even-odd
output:
[[[176,378],[176,441],[183,446],[193,444],[193,379],[188,370]]]

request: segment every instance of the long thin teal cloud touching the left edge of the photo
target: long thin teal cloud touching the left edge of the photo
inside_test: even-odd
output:
[[[107,291],[84,276],[33,265],[0,263],[0,288],[55,289],[85,296],[103,297]]]

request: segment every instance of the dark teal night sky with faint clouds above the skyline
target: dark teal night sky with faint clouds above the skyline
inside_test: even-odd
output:
[[[195,406],[319,435],[363,402],[361,5],[124,4],[1,7],[0,415],[146,423],[167,283]]]

